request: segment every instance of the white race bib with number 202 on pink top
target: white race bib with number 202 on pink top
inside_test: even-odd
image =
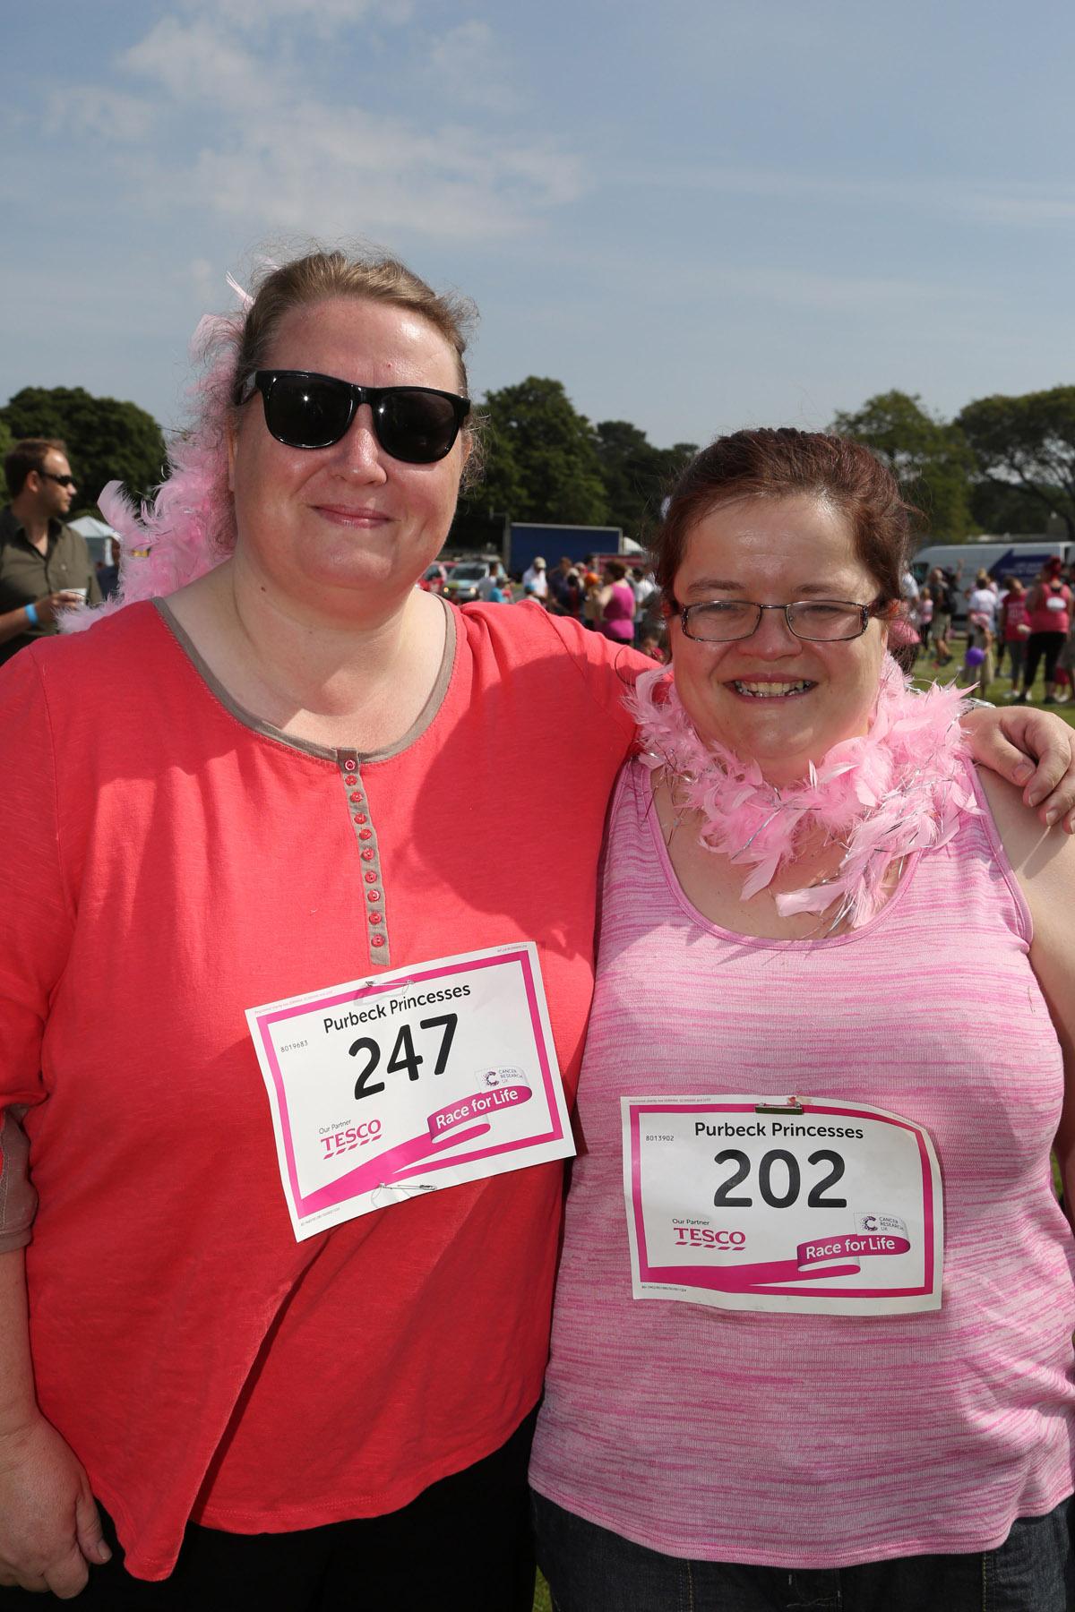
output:
[[[811,1315],[941,1307],[922,1125],[828,1098],[622,1098],[637,1299]]]

